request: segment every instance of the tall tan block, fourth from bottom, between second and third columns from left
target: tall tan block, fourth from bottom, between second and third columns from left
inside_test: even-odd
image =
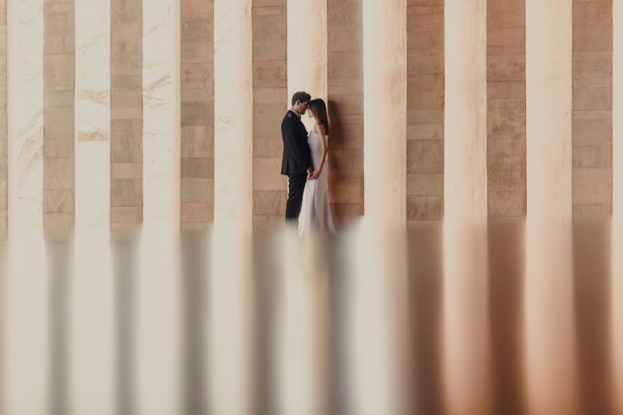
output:
[[[111,163],[143,163],[142,120],[111,120]]]

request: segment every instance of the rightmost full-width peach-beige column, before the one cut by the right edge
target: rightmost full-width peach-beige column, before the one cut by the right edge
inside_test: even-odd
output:
[[[527,412],[572,414],[571,1],[527,0]]]

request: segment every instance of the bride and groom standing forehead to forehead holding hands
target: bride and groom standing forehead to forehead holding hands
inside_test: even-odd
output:
[[[314,120],[307,132],[300,120],[306,112]],[[298,216],[305,191],[305,218],[302,233],[335,232],[327,192],[327,106],[320,98],[311,99],[306,92],[292,96],[292,107],[281,123],[283,160],[281,174],[288,176],[286,222],[298,226]]]

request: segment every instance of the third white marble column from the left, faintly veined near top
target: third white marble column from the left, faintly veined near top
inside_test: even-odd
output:
[[[181,414],[180,3],[143,3],[143,232],[136,280],[136,410]]]

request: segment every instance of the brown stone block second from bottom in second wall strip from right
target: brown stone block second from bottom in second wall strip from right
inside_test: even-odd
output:
[[[487,156],[489,190],[525,191],[525,156]]]

